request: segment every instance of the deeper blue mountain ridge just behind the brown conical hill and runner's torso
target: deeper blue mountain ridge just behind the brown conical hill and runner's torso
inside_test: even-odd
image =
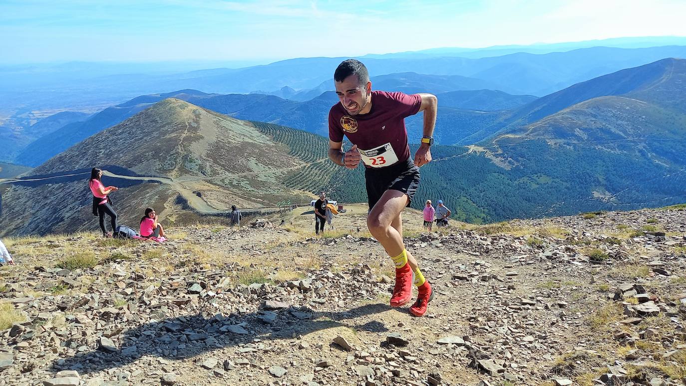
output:
[[[521,106],[536,99],[530,95],[509,95],[501,91],[490,90],[440,93],[442,89],[459,87],[459,80],[454,79],[455,84],[446,84],[442,88],[439,86],[440,79],[449,80],[449,78],[413,73],[399,74],[397,77],[388,75],[383,80],[389,86],[389,88],[385,88],[386,90],[405,90],[408,92],[411,90],[403,85],[416,84],[427,79],[436,82],[435,89],[441,107],[436,138],[438,141],[444,141],[444,143],[458,143],[464,136],[471,135],[473,130],[484,122],[490,122],[495,117],[499,117],[496,114],[484,114],[483,111]],[[397,86],[393,87],[390,83]],[[304,102],[282,99],[274,95],[219,95],[196,90],[143,95],[123,104],[106,108],[102,112],[88,117],[86,121],[64,125],[64,127],[39,138],[33,143],[25,145],[25,148],[13,160],[21,165],[38,166],[71,145],[88,138],[88,136],[128,119],[137,112],[169,97],[182,99],[191,104],[228,114],[238,119],[275,123],[322,136],[327,136],[329,132],[327,122],[329,109],[338,103],[338,96],[333,91],[327,91]],[[470,108],[479,111],[469,111]],[[409,122],[408,130],[411,138],[413,141],[418,141],[422,135],[423,123],[414,119]]]

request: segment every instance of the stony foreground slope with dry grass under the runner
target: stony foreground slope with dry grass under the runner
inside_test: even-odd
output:
[[[408,232],[421,318],[368,234],[284,226],[5,240],[0,385],[685,382],[686,211]]]

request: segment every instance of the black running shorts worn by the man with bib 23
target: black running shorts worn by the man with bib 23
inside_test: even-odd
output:
[[[388,167],[366,167],[364,180],[367,186],[369,210],[372,210],[381,200],[381,195],[389,189],[405,193],[409,199],[407,206],[410,206],[412,197],[419,187],[421,176],[419,175],[419,168],[414,165],[412,159],[407,158],[407,161],[397,162]]]

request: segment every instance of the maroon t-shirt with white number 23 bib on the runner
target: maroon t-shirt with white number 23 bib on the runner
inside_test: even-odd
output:
[[[329,110],[329,139],[342,142],[345,135],[357,145],[366,167],[387,167],[410,158],[405,117],[419,111],[418,94],[372,91],[372,108],[366,114],[348,115],[338,102]]]

